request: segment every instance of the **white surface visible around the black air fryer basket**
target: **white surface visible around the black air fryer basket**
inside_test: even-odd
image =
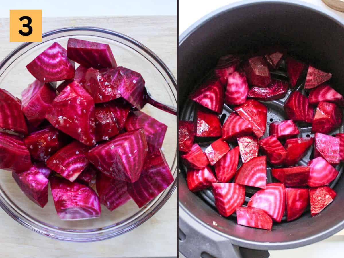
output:
[[[236,0],[180,0],[179,1],[179,35],[183,33],[190,25],[202,18],[204,15],[223,7],[226,4],[237,2]],[[337,12],[327,7],[321,0],[305,0],[312,4],[321,6],[324,9],[331,10],[343,18],[344,13]],[[344,35],[341,36],[344,40]],[[344,218],[344,214],[343,214]],[[270,251],[270,258],[336,258],[344,257],[344,236],[333,236],[321,242],[288,250]]]

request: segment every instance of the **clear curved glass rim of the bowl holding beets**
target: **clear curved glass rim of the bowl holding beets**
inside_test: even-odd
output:
[[[169,79],[169,81],[172,83],[174,88],[176,89],[176,79],[170,69],[164,64],[164,62],[156,55],[154,54],[148,47],[144,46],[140,42],[136,41],[135,39],[116,32],[116,31],[111,31],[107,30],[104,28],[98,28],[98,27],[90,27],[90,26],[83,26],[83,27],[67,27],[67,28],[60,28],[52,31],[48,31],[46,33],[42,34],[42,42],[43,39],[52,36],[52,35],[58,35],[60,33],[66,33],[66,32],[80,32],[80,31],[90,31],[90,32],[96,32],[96,33],[101,33],[105,35],[110,35],[112,37],[117,37],[121,40],[124,40],[133,46],[135,46],[138,50],[142,51],[145,55],[147,55],[149,58],[151,58],[156,64],[158,64],[159,68],[162,70],[164,75],[166,75]],[[107,38],[109,39],[109,38]],[[114,39],[109,39],[109,40],[114,40]],[[0,77],[2,74],[6,71],[6,69],[11,65],[11,58],[13,58],[16,54],[20,54],[20,52],[23,52],[27,47],[30,45],[38,43],[41,44],[41,42],[25,42],[18,47],[16,47],[9,55],[7,55],[1,62],[0,62]],[[33,46],[35,47],[35,45]],[[31,49],[31,48],[30,48]],[[28,49],[28,50],[30,50]],[[137,50],[135,50],[137,51]],[[139,51],[137,51],[139,52]],[[139,52],[141,55],[142,53]],[[143,55],[144,56],[144,55]],[[147,56],[144,56],[148,61],[150,61]],[[19,58],[18,56],[17,58]],[[17,59],[16,58],[16,59]],[[151,62],[151,61],[150,61]],[[7,65],[7,66],[6,66]],[[154,64],[153,64],[154,65]],[[158,69],[158,67],[155,67]],[[161,73],[159,69],[159,72]],[[169,84],[169,87],[171,88],[171,85]],[[176,95],[172,91],[171,92],[173,95],[174,100],[176,101]],[[65,241],[78,241],[78,242],[90,242],[90,241],[99,241],[99,240],[105,240],[109,239],[115,236],[122,235],[124,233],[129,232],[130,230],[138,227],[142,223],[146,222],[150,217],[152,217],[156,212],[159,211],[159,209],[168,201],[168,199],[171,197],[173,192],[176,189],[176,154],[173,160],[172,164],[172,170],[171,172],[174,175],[174,182],[172,185],[169,187],[168,192],[165,193],[164,195],[160,195],[158,198],[154,198],[149,204],[150,207],[147,209],[147,211],[142,212],[142,209],[137,212],[136,214],[132,215],[131,217],[134,217],[135,215],[139,214],[137,218],[135,218],[132,221],[129,221],[128,223],[125,223],[122,225],[123,222],[126,222],[129,218],[125,219],[124,221],[121,221],[120,223],[116,223],[111,226],[107,226],[104,228],[99,228],[96,230],[66,230],[66,229],[59,229],[55,227],[50,227],[47,226],[46,224],[42,224],[38,221],[36,221],[34,218],[30,216],[25,216],[22,213],[18,212],[16,209],[14,209],[11,205],[7,203],[7,196],[4,193],[4,195],[0,194],[0,207],[8,214],[10,215],[15,221],[20,223],[26,228],[29,228],[33,230],[34,232],[37,232],[41,235],[51,237],[54,239],[59,239],[59,240],[65,240]],[[0,186],[1,188],[1,186]],[[2,191],[2,189],[1,189]],[[167,191],[167,190],[165,190]],[[153,203],[152,203],[153,202]],[[149,205],[147,204],[147,205]],[[140,214],[141,213],[141,214]]]

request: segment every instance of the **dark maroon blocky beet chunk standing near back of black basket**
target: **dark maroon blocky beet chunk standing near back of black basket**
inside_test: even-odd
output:
[[[244,64],[247,81],[250,85],[266,88],[270,82],[268,62],[263,56],[252,57]]]

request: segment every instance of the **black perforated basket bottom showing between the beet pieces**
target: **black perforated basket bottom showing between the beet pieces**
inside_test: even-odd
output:
[[[211,75],[213,73],[213,71],[209,72],[208,75],[206,75],[199,84],[197,84],[195,86],[195,88],[197,88],[205,79],[207,79],[209,77],[209,75]],[[272,71],[271,72],[271,77],[272,78],[276,78],[276,79],[280,79],[280,80],[286,80],[288,81],[288,76],[287,76],[287,72],[286,72],[286,66],[284,61],[281,63],[280,67],[278,68],[278,70],[276,71]],[[295,86],[295,88],[293,90],[300,90],[303,94],[307,95],[307,92],[305,92],[305,90],[303,89],[304,86],[304,78],[305,74],[303,74],[303,76],[301,76],[298,84]],[[286,120],[287,117],[284,114],[284,102],[288,99],[290,93],[292,92],[291,89],[288,90],[287,95],[279,100],[272,100],[272,101],[259,101],[262,104],[264,104],[265,106],[267,106],[268,108],[268,113],[267,113],[267,126],[266,126],[266,131],[264,133],[264,136],[262,138],[265,138],[267,136],[269,136],[269,126],[271,122],[276,122],[276,121],[281,121],[281,120]],[[193,120],[193,114],[197,108],[198,104],[196,104],[194,101],[192,101],[191,99],[187,99],[187,101],[185,102],[185,105],[183,107],[182,110],[182,114],[180,116],[180,120]],[[229,116],[229,114],[231,112],[233,112],[234,110],[230,107],[227,106],[226,104],[224,105],[223,108],[223,112],[220,115],[220,120],[221,120],[221,124],[223,125],[224,121],[226,120],[226,118]],[[310,124],[304,124],[304,123],[296,123],[299,127],[299,135],[295,136],[295,137],[314,137],[314,134],[311,132],[312,130],[312,126]],[[343,119],[343,123],[341,125],[341,127],[339,129],[334,130],[333,132],[331,132],[330,135],[335,135],[336,133],[343,133],[344,132],[344,119]],[[197,142],[200,147],[202,148],[202,150],[205,150],[212,142],[214,141],[214,139],[209,140],[209,139],[195,139],[195,142]],[[282,142],[282,144],[284,145],[284,142]],[[229,146],[231,147],[231,149],[233,149],[235,146],[237,146],[237,144],[234,143],[230,143]],[[259,152],[258,155],[263,155],[262,153]],[[303,157],[302,160],[300,160],[298,162],[297,165],[307,165],[308,161],[310,159],[312,159],[313,157],[313,146],[308,150],[307,154]],[[242,162],[239,159],[239,164],[238,164],[238,168],[240,168]],[[181,174],[184,176],[184,180],[186,179],[186,172],[187,172],[187,168],[180,162],[180,168],[181,168]],[[273,178],[271,175],[271,168],[273,168],[273,166],[267,162],[267,183],[273,183],[273,182],[279,182],[277,179]],[[340,163],[336,166],[336,169],[339,171],[337,177],[330,183],[330,187],[333,188],[335,186],[335,184],[337,183],[338,179],[340,178],[342,172],[343,172],[343,163]],[[230,181],[230,182],[234,182],[234,178]],[[248,201],[250,200],[251,196],[257,192],[259,189],[255,188],[255,187],[250,187],[250,186],[246,186],[246,193],[245,193],[245,202],[243,204],[243,206],[246,206]],[[214,195],[211,189],[206,189],[203,191],[200,191],[198,194],[203,200],[204,202],[206,202],[208,205],[210,205],[211,207],[213,207],[216,210],[215,207],[215,200],[214,200]],[[306,209],[305,212],[309,212],[310,209]],[[236,214],[234,213],[233,215],[229,216],[228,219],[231,218],[235,218]],[[283,215],[282,221],[286,221],[286,214]]]

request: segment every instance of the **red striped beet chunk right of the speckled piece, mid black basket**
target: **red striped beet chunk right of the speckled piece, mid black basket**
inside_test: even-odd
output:
[[[281,165],[287,157],[287,151],[280,141],[273,135],[259,141],[261,150],[267,155],[273,165]]]

